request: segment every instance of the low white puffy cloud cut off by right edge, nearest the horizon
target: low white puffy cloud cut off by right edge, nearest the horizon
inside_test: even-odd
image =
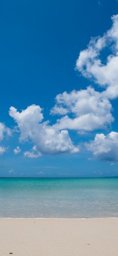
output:
[[[118,162],[118,133],[108,135],[96,134],[93,141],[85,143],[88,150],[93,152],[95,159],[108,162]]]

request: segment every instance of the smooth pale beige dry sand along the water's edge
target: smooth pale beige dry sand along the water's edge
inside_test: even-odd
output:
[[[7,255],[118,256],[118,219],[0,219]]]

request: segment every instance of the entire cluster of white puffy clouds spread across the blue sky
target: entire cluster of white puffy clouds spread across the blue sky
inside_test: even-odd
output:
[[[10,108],[10,116],[20,130],[20,142],[31,141],[34,144],[31,150],[24,152],[25,157],[79,152],[68,130],[84,134],[86,131],[106,129],[114,121],[110,101],[118,97],[118,15],[114,15],[112,21],[111,29],[101,37],[92,38],[76,61],[76,70],[98,84],[100,90],[89,86],[84,90],[58,94],[50,113],[59,117],[52,126],[49,121],[43,121],[42,109],[37,105],[21,112]],[[106,60],[104,49],[107,49],[105,54],[108,52]],[[0,140],[5,133],[10,133],[10,130],[0,123]],[[85,145],[94,159],[118,162],[118,133],[111,132],[106,136],[97,133],[94,140]],[[4,153],[5,148],[0,147],[0,152]],[[19,146],[14,153],[20,153]]]

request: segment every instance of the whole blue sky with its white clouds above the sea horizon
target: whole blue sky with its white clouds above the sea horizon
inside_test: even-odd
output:
[[[118,1],[0,2],[0,177],[118,176]]]

